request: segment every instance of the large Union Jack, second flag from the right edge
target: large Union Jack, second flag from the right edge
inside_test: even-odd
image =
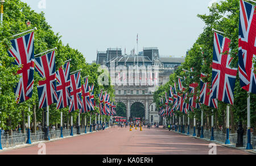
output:
[[[219,101],[233,105],[237,68],[230,67],[229,44],[230,39],[214,32],[212,90]]]

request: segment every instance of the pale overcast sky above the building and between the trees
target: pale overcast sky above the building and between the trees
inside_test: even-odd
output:
[[[130,53],[158,47],[160,56],[180,57],[192,47],[205,24],[197,14],[208,14],[219,0],[22,0],[43,11],[64,44],[78,49],[88,63],[96,52],[122,48]],[[46,3],[44,3],[46,2]],[[31,23],[32,24],[32,23]]]

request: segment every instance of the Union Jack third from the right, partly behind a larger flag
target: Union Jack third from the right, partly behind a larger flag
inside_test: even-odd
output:
[[[210,89],[210,82],[204,82],[203,78],[206,77],[205,74],[201,73],[200,78],[200,102],[209,107],[218,109],[218,101],[213,98],[213,90]]]

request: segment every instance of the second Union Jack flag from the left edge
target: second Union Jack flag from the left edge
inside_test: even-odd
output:
[[[39,109],[41,109],[57,103],[55,51],[36,57],[35,64],[36,72],[40,77],[45,78],[44,81],[39,81],[38,86]]]

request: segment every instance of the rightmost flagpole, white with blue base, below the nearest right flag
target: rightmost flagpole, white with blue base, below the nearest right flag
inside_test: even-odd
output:
[[[251,109],[250,109],[250,92],[247,97],[247,146],[246,150],[252,150],[251,146]]]

